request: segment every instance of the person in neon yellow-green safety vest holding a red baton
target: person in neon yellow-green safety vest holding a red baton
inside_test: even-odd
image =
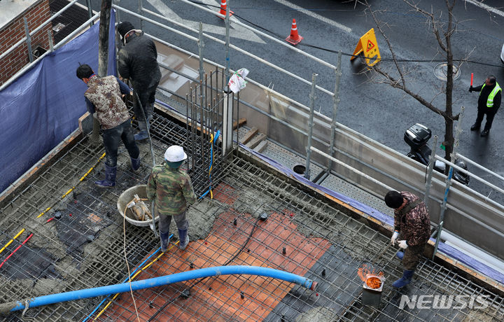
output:
[[[476,122],[471,126],[471,131],[479,130],[483,117],[486,114],[485,127],[481,132],[481,136],[486,137],[490,132],[493,117],[495,117],[498,108],[500,107],[502,89],[498,85],[495,76],[490,75],[486,78],[483,85],[469,87],[469,92],[479,92],[478,114]]]

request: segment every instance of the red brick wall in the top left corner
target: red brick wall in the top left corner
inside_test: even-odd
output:
[[[49,0],[41,0],[25,10],[18,18],[4,26],[0,30],[0,55],[11,48],[15,43],[20,41],[25,36],[25,22],[23,17],[27,18],[29,31],[42,25],[45,20],[50,18]],[[49,49],[49,35],[52,24],[49,23],[43,29],[31,36],[31,50],[41,46],[44,49]],[[13,52],[7,55],[0,61],[0,85],[5,83],[10,77],[17,73],[23,66],[29,64],[28,46],[26,42],[19,45]]]

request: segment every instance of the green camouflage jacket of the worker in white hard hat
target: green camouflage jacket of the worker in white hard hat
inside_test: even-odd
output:
[[[155,199],[155,214],[174,216],[186,211],[187,203],[196,202],[189,175],[166,163],[153,167],[147,183],[147,197]]]

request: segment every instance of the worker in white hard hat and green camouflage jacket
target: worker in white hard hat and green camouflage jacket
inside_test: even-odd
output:
[[[179,248],[189,244],[186,219],[187,204],[196,201],[189,175],[181,169],[186,153],[181,146],[170,146],[165,152],[165,163],[152,169],[147,183],[147,197],[155,200],[155,216],[159,216],[161,251],[166,252],[169,242],[169,226],[172,217],[179,229]]]

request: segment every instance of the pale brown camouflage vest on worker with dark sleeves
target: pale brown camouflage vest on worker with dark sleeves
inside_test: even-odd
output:
[[[109,130],[130,118],[116,76],[94,76],[87,82],[87,87],[84,96],[93,104],[102,129]]]

